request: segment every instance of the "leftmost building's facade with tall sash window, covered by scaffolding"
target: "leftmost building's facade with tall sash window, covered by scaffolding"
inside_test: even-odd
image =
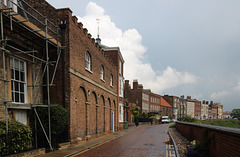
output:
[[[28,111],[49,98],[49,54],[59,56],[59,28],[26,1],[3,1],[1,8],[0,120],[28,124]]]

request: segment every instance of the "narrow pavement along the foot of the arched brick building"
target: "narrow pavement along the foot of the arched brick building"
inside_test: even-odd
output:
[[[140,127],[140,126],[138,126],[138,127]],[[118,137],[121,137],[125,134],[128,134],[129,132],[135,130],[136,128],[137,128],[136,126],[132,126],[132,127],[129,127],[126,130],[113,132],[111,134],[100,136],[98,138],[94,138],[94,139],[91,139],[89,141],[81,142],[78,145],[70,145],[66,149],[46,153],[44,155],[40,155],[39,157],[53,157],[53,156],[54,157],[68,157],[68,156],[73,156],[74,154],[86,151],[86,150],[91,149],[93,147],[97,147],[98,145],[101,145],[103,143],[112,141],[112,140],[114,140]]]

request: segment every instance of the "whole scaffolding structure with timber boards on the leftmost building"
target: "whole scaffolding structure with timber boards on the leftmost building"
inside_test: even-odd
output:
[[[33,108],[35,113],[35,127],[36,121],[40,123],[40,126],[44,132],[44,135],[48,141],[49,147],[53,150],[51,145],[51,123],[50,123],[50,110],[51,104],[50,102],[50,86],[53,86],[53,81],[55,78],[57,66],[59,63],[59,59],[61,56],[61,44],[59,42],[60,39],[60,30],[59,27],[56,26],[53,22],[51,22],[46,16],[43,16],[40,12],[35,10],[32,6],[26,3],[24,0],[0,0],[0,27],[1,27],[1,47],[0,51],[2,53],[2,77],[0,77],[0,81],[3,82],[4,87],[4,97],[3,100],[0,100],[0,105],[5,106],[5,117],[6,117],[6,133],[8,133],[8,108],[9,106],[25,106],[29,108]],[[6,24],[7,23],[7,24]],[[34,49],[26,51],[23,48],[18,48],[16,45],[12,44],[11,39],[8,39],[5,36],[5,31],[13,31],[15,26],[18,28],[24,29],[34,37],[37,37],[42,41],[42,45],[44,45],[44,55],[36,55],[38,52]],[[49,60],[49,47],[53,47],[54,51],[57,52],[56,60]],[[28,56],[27,58],[22,57],[22,55]],[[12,100],[9,100],[9,92],[8,86],[11,80],[7,77],[7,63],[6,56],[14,56],[19,59],[23,59],[28,63],[32,64],[32,103],[16,103]],[[30,58],[30,59],[29,59]],[[40,63],[40,65],[39,65]],[[36,71],[36,67],[40,66],[43,68],[39,68]],[[50,78],[50,66],[53,66],[53,73],[51,73]],[[27,74],[26,74],[27,75]],[[45,79],[45,84],[43,83]],[[37,104],[38,95],[41,89],[46,87],[46,95],[47,95],[47,105]],[[48,135],[42,125],[41,119],[37,113],[36,107],[47,107],[48,108],[48,121],[49,121],[49,130]],[[36,130],[36,129],[35,129]],[[35,141],[37,148],[37,136],[35,133]]]

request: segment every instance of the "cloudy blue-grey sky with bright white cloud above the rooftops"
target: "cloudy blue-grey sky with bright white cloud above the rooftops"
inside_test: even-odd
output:
[[[120,47],[125,79],[164,95],[240,108],[239,0],[47,0],[69,7],[102,44]]]

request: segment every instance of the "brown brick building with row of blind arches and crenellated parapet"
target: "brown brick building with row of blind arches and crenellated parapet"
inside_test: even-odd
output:
[[[69,8],[55,9],[44,0],[28,1],[61,28],[65,49],[59,60],[58,79],[50,90],[51,101],[70,111],[69,140],[117,131],[119,67],[113,58],[121,58],[119,49],[114,48],[114,54],[105,52]],[[54,53],[50,55],[56,57]]]

